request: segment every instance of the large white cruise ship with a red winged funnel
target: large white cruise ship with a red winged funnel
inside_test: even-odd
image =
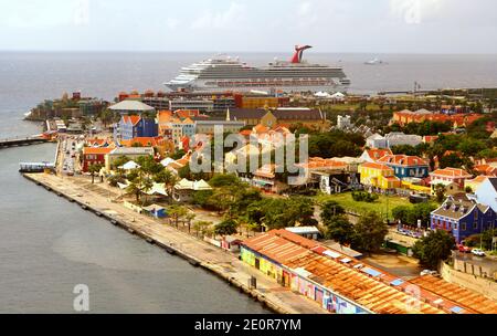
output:
[[[303,60],[310,45],[295,46],[289,62],[275,61],[254,67],[237,57],[219,56],[182,67],[165,85],[172,91],[189,92],[345,92],[350,85],[339,66],[310,64]]]

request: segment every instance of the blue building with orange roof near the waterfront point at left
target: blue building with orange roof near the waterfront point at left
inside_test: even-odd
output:
[[[141,137],[157,137],[159,126],[154,118],[145,118],[138,115],[121,116],[114,128],[114,138],[130,140]]]

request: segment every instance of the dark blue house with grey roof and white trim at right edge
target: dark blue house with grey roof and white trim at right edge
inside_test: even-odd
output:
[[[469,199],[465,193],[448,197],[442,207],[431,214],[432,230],[451,232],[457,243],[496,225],[496,212],[490,207]]]

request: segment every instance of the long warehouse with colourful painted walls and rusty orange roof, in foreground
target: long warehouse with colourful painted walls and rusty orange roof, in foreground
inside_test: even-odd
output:
[[[282,286],[335,314],[474,314],[477,311],[424,288],[405,304],[412,284],[287,230],[245,240],[241,260]],[[495,308],[495,307],[494,307]]]

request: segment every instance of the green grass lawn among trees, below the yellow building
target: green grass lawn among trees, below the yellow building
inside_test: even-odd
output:
[[[380,198],[373,202],[373,203],[367,203],[367,202],[356,202],[352,199],[351,192],[345,192],[345,193],[338,193],[338,195],[319,195],[316,197],[317,201],[319,203],[326,202],[328,200],[332,200],[338,202],[341,207],[343,207],[346,210],[356,212],[356,213],[366,213],[369,211],[376,211],[381,217],[385,217],[385,213],[388,211],[389,219],[393,220],[392,217],[392,209],[399,206],[408,206],[413,207],[409,199],[406,198],[400,198],[400,197],[387,197],[387,196],[380,196]]]

